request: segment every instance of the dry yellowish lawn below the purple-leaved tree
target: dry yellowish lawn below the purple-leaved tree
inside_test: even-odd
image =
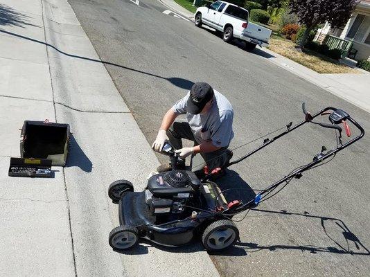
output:
[[[358,73],[357,70],[344,66],[329,57],[310,50],[301,52],[294,46],[296,46],[294,42],[279,35],[272,35],[268,48],[318,73]]]

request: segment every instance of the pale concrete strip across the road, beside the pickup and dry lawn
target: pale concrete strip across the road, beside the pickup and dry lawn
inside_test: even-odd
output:
[[[188,18],[194,18],[192,12],[186,10],[173,0],[159,0],[165,6],[179,12]],[[258,46],[257,46],[258,47]],[[370,112],[370,73],[362,71],[362,73],[353,74],[320,74],[306,66],[302,66],[297,62],[289,60],[278,53],[274,53],[267,48],[260,48],[263,52],[263,57],[269,62],[272,62],[281,68],[290,71],[294,75],[299,76],[316,84],[318,87],[329,91],[344,100]]]

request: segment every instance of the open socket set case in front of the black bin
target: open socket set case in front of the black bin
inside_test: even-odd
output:
[[[51,160],[10,158],[10,177],[52,177]]]

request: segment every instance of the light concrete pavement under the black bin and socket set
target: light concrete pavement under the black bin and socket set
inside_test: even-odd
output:
[[[107,188],[129,179],[142,190],[157,158],[67,0],[0,8],[0,276],[218,276],[199,245],[112,251]],[[53,179],[8,177],[19,127],[45,118],[71,125],[67,167]]]

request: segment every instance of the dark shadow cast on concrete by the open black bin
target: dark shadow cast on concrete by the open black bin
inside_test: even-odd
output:
[[[92,163],[85,152],[82,151],[73,135],[69,139],[69,157],[67,160],[67,168],[78,166],[85,172],[91,172]]]

